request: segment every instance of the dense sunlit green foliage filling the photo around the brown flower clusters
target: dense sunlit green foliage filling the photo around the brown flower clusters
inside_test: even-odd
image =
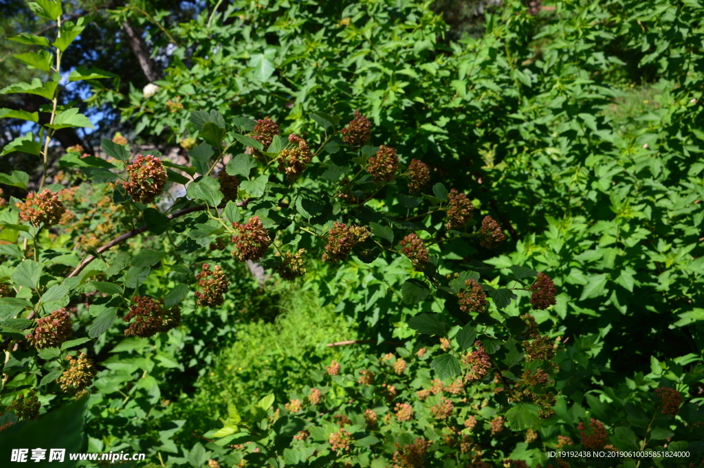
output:
[[[14,424],[0,445],[82,411],[54,381],[61,358],[82,350],[98,372],[84,438],[77,430],[70,443],[144,452],[157,465],[702,466],[704,10],[668,0],[551,6],[534,15],[509,1],[481,35],[454,40],[428,2],[225,2],[150,35],[177,43],[158,88],[137,83],[125,99],[100,70],[82,76],[91,106],[135,125],[130,139],[187,149],[189,166],[168,165],[170,193],[187,184],[186,196],[130,198],[118,177],[135,155],[119,140],[103,143],[108,160],[69,152],[58,167],[42,134],[6,147],[44,159],[38,188],[58,191],[75,219],[41,229],[20,220],[21,200],[0,208],[0,282],[14,289],[0,299],[0,401],[37,389],[42,403],[34,422],[6,410],[0,426]],[[363,174],[379,148],[346,145],[337,132],[355,109],[372,121],[370,145],[396,148],[400,174],[412,158],[429,165],[419,196],[411,177]],[[69,106],[55,114],[87,125]],[[250,138],[251,119],[265,116],[309,142],[315,157],[300,177],[275,170],[291,148],[283,138],[269,147]],[[238,203],[224,200],[216,168],[241,179]],[[29,177],[0,183],[27,189]],[[452,188],[477,208],[466,231],[444,225]],[[195,201],[213,209],[165,216]],[[208,250],[237,235],[230,222],[254,215],[275,246],[263,267],[274,272],[305,248],[305,277],[260,282],[232,247]],[[480,246],[484,215],[510,241]],[[339,264],[320,260],[336,221],[372,234]],[[95,250],[143,222],[144,234]],[[411,232],[431,255],[425,268],[400,255]],[[87,255],[89,267],[74,270]],[[230,280],[215,308],[196,305],[203,262]],[[551,308],[529,303],[537,272],[557,286]],[[491,298],[484,312],[458,307],[467,279]],[[178,304],[180,324],[123,336],[138,295]],[[37,353],[24,339],[30,319],[61,307],[77,339]],[[660,454],[555,460],[556,448]]]

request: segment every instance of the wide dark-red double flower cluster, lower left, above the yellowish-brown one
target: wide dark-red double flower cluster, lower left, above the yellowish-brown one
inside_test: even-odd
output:
[[[161,299],[149,296],[134,296],[132,302],[134,304],[123,320],[130,322],[134,319],[134,322],[125,330],[125,336],[149,338],[157,333],[169,331],[181,322],[181,310],[177,305],[164,309]]]

